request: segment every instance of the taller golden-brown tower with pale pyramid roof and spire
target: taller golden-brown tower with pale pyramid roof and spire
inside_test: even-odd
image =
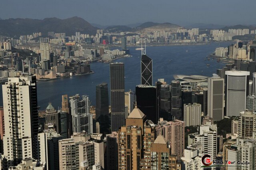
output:
[[[145,122],[146,115],[135,106],[118,131],[118,169],[139,170],[140,160],[150,153],[154,127]],[[151,122],[152,123],[152,122]]]

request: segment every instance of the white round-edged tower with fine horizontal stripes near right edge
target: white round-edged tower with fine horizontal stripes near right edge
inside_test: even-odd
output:
[[[246,96],[249,94],[249,76],[246,71],[226,71],[225,105],[226,115],[240,116],[246,108]]]

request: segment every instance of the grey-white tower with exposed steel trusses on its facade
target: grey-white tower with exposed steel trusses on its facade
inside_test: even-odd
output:
[[[88,134],[93,133],[92,114],[90,114],[89,97],[83,95],[80,98],[79,94],[70,96],[70,110],[72,116],[73,133],[85,131]]]

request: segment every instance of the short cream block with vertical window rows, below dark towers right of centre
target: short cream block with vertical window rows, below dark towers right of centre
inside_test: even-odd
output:
[[[184,123],[185,126],[201,125],[201,104],[184,104]]]

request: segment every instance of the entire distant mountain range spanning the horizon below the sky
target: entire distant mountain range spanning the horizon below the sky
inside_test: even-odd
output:
[[[228,31],[228,29],[249,29],[255,30],[256,26],[245,26],[245,25],[235,25],[235,26],[224,26],[215,24],[192,24],[189,26],[179,26],[171,23],[156,23],[156,22],[145,22],[145,23],[135,23],[128,25],[110,25],[102,26],[100,24],[90,24],[86,20],[80,17],[72,17],[67,19],[59,18],[45,18],[43,20],[29,19],[29,18],[10,18],[2,20],[0,18],[0,35],[18,37],[20,35],[28,35],[33,32],[42,32],[42,36],[46,37],[48,32],[65,32],[67,36],[74,35],[75,32],[80,32],[82,34],[95,35],[97,29],[104,29],[105,32],[131,32],[131,33],[141,33],[148,31],[168,31],[175,32],[178,29],[190,29],[199,28],[200,30],[209,29],[222,29]]]

